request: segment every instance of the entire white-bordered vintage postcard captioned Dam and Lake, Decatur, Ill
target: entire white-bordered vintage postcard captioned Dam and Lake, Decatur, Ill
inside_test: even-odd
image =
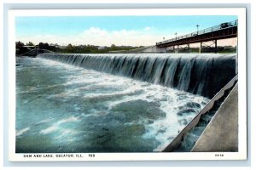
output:
[[[247,159],[245,8],[9,11],[9,161]]]

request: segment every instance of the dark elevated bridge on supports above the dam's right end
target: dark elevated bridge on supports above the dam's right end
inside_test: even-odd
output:
[[[175,46],[177,46],[177,50],[178,50],[179,48],[178,46],[180,45],[188,45],[188,48],[189,48],[190,43],[200,42],[200,53],[201,53],[202,43],[212,41],[213,42],[212,44],[215,45],[214,52],[217,53],[218,52],[217,41],[220,39],[237,37],[237,25],[238,25],[238,20],[225,22],[218,26],[212,26],[210,28],[207,28],[201,31],[195,31],[187,35],[168,39],[163,42],[156,42],[156,47],[157,48],[173,48],[174,50]]]

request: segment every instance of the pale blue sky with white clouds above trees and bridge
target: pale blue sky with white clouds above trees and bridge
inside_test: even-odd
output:
[[[197,30],[237,20],[233,15],[183,16],[48,16],[16,17],[15,37],[20,42],[59,45],[149,46]]]

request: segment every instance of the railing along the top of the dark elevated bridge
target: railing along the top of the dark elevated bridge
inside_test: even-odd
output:
[[[174,41],[177,41],[177,40],[180,40],[180,39],[183,39],[183,38],[187,38],[187,37],[195,37],[195,36],[199,36],[199,35],[202,35],[202,34],[205,34],[205,33],[208,33],[208,32],[212,32],[212,31],[218,31],[218,30],[222,30],[222,29],[226,29],[226,28],[230,28],[230,27],[235,27],[235,26],[237,26],[237,24],[238,24],[238,20],[233,20],[233,21],[230,21],[230,22],[224,22],[224,23],[222,23],[218,26],[212,26],[212,27],[206,28],[206,29],[201,30],[201,31],[195,31],[195,32],[183,35],[183,36],[174,37],[172,39],[168,39],[168,40],[163,41],[163,42],[156,42],[156,45],[160,45],[160,44],[167,43],[167,42],[174,42]]]

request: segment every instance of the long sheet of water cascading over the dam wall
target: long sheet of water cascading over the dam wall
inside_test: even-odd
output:
[[[236,54],[39,54],[212,98],[236,76]]]

